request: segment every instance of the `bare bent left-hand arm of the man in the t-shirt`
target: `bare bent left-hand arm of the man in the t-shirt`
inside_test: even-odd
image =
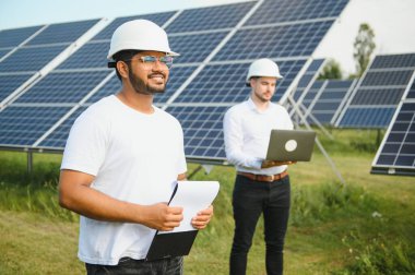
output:
[[[61,170],[59,179],[59,204],[80,215],[107,222],[137,223],[169,231],[180,225],[182,208],[165,203],[140,205],[119,201],[91,188],[94,176]]]

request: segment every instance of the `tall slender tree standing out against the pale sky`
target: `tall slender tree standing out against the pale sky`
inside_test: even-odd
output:
[[[369,64],[370,56],[376,48],[374,38],[375,32],[371,29],[369,24],[360,24],[355,39],[355,50],[353,53],[353,57],[356,61],[356,76],[358,77],[361,76],[361,74],[365,72],[367,65]]]

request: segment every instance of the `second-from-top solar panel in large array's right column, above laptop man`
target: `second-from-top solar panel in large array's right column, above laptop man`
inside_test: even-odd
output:
[[[310,56],[333,21],[238,31],[214,60]]]

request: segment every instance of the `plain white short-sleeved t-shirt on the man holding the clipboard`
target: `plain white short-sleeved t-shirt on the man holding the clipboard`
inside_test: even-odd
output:
[[[141,113],[108,96],[74,122],[61,169],[95,176],[92,188],[143,205],[168,202],[174,182],[187,170],[180,123],[154,107]],[[143,259],[155,230],[140,224],[81,216],[79,258],[115,265],[122,256]]]

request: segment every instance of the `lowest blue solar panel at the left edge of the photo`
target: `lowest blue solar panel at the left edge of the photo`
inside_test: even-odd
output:
[[[0,144],[29,146],[52,127],[70,108],[15,107],[0,112]]]

